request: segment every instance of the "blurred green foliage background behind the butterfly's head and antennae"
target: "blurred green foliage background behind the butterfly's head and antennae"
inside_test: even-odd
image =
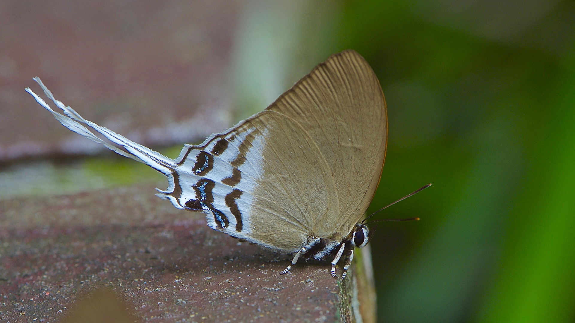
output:
[[[421,218],[380,224],[371,241],[380,322],[575,322],[574,2],[242,8],[229,73],[236,120],[352,48],[388,102],[388,153],[368,212],[433,183],[376,216]],[[93,188],[154,176],[108,155],[48,168],[70,191],[82,176]]]

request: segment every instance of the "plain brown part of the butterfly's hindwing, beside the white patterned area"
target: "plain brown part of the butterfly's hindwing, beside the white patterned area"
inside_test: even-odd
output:
[[[245,239],[283,251],[298,251],[317,218],[335,218],[339,204],[335,183],[317,144],[292,118],[264,110],[239,131],[263,138],[252,156],[262,156],[262,175],[250,194],[250,234]],[[259,140],[258,140],[259,141]],[[254,141],[255,142],[255,141]],[[236,235],[235,232],[229,234]]]

